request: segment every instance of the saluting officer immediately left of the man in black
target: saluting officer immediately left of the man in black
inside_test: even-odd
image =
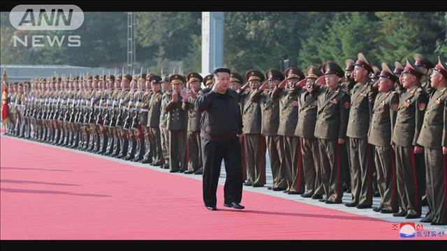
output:
[[[188,132],[186,141],[186,162],[188,169],[185,174],[193,174],[202,168],[202,147],[200,144],[200,112],[194,109],[197,94],[202,89],[203,77],[198,73],[188,73],[186,81],[189,89],[182,93],[182,109],[188,113]],[[185,95],[186,94],[186,95]]]

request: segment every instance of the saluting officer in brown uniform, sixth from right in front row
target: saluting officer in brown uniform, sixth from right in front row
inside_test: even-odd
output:
[[[318,139],[314,135],[318,110],[318,89],[320,88],[315,81],[322,75],[321,70],[316,67],[311,66],[306,69],[305,93],[302,93],[298,100],[298,123],[295,129],[295,135],[300,137],[306,181],[306,192],[301,196],[312,197],[312,199],[322,199],[324,194]]]

